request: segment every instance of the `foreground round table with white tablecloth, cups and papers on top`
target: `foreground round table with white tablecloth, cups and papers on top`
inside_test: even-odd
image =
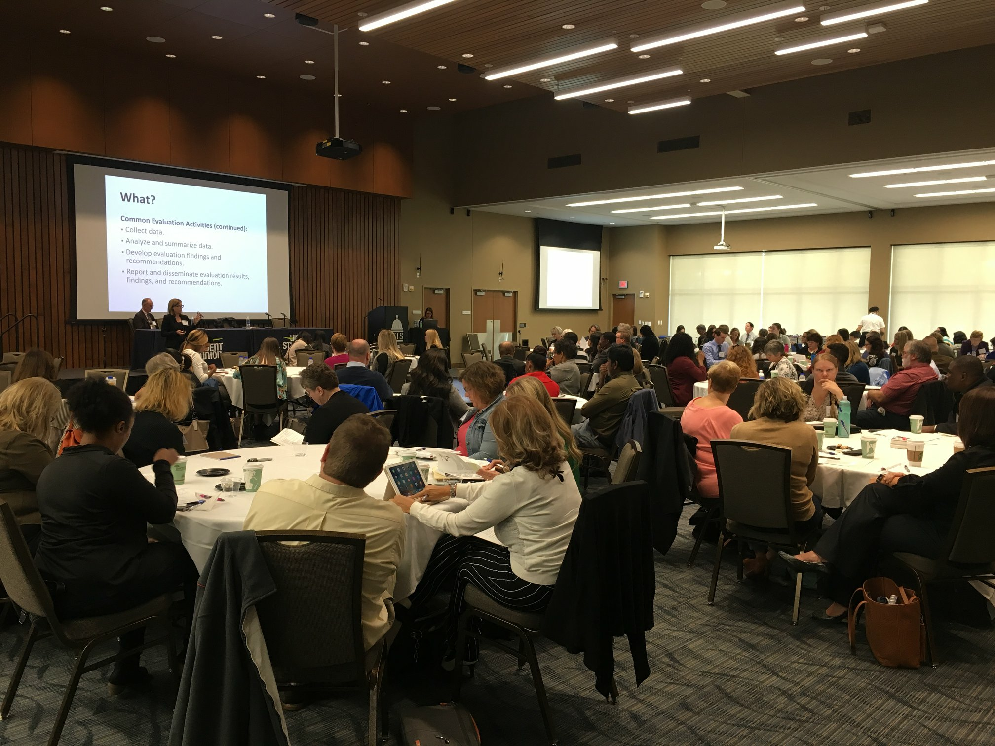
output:
[[[391,448],[391,455],[387,459],[387,464],[396,464],[401,461],[395,454],[398,449]],[[445,452],[444,449],[428,449],[436,453]],[[179,504],[197,499],[198,494],[207,494],[216,497],[220,494],[214,485],[218,483],[218,476],[199,476],[197,470],[201,468],[228,468],[232,474],[241,475],[242,466],[248,459],[252,458],[272,458],[272,462],[263,463],[263,481],[269,479],[306,479],[317,471],[319,460],[324,451],[324,446],[315,444],[306,447],[307,455],[303,457],[295,456],[294,447],[276,446],[272,448],[252,448],[229,451],[226,453],[236,454],[240,459],[229,459],[217,461],[207,459],[204,456],[191,456],[187,458],[186,478],[183,484],[176,486],[176,493]],[[429,464],[431,462],[423,462]],[[139,469],[145,478],[153,480],[152,467],[144,466]],[[380,474],[366,486],[366,494],[370,499],[382,499],[387,489],[387,477],[381,471]],[[249,506],[252,504],[254,492],[236,492],[232,496],[226,495],[223,501],[211,501],[213,507],[204,509],[203,507],[185,512],[177,512],[173,519],[173,526],[179,531],[183,541],[183,546],[197,566],[198,571],[204,569],[207,558],[211,554],[214,542],[225,531],[241,531],[246,515],[249,513]],[[454,498],[440,502],[435,505],[437,509],[448,511],[459,511],[467,507],[469,503],[462,498]],[[206,505],[205,505],[206,507]],[[401,564],[397,568],[397,583],[394,587],[394,598],[396,600],[406,599],[415,590],[418,581],[425,574],[429,557],[435,548],[436,541],[442,536],[441,531],[426,526],[417,518],[405,515],[407,528],[405,530],[404,556]],[[276,528],[276,526],[274,527]],[[497,541],[494,529],[488,529],[478,534],[483,539],[500,543]]]

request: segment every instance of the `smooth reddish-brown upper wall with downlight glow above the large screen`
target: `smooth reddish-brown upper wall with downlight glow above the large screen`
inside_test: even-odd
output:
[[[342,131],[363,153],[319,158],[333,125],[328,95],[282,90],[149,60],[84,40],[16,38],[0,45],[0,141],[276,181],[411,194],[410,125],[342,107]]]

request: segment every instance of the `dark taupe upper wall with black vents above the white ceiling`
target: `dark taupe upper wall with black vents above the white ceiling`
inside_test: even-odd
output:
[[[777,64],[773,56],[770,63]],[[694,95],[694,85],[675,83],[653,93]],[[995,46],[750,89],[746,98],[711,95],[636,116],[551,95],[522,98],[458,116],[454,204],[991,147],[991,128],[979,122],[995,120],[992,90]],[[871,109],[872,121],[848,125],[848,112],[862,109]],[[695,149],[657,152],[660,140],[693,135],[700,136]],[[548,158],[573,153],[581,155],[580,165],[547,168]]]

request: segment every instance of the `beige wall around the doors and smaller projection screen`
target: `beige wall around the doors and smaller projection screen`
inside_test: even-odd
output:
[[[608,311],[561,312],[534,310],[535,240],[531,218],[498,215],[452,206],[452,122],[432,122],[416,132],[414,198],[401,205],[401,277],[410,288],[399,294],[401,305],[422,308],[423,288],[450,288],[450,334],[454,361],[464,351],[471,330],[474,289],[518,291],[521,338],[534,345],[553,325],[572,328],[579,336],[588,326],[604,326]],[[601,276],[608,272],[608,232],[604,234]],[[421,261],[421,278],[415,268]],[[503,281],[497,273],[504,265]],[[604,303],[611,308],[603,289]],[[418,315],[414,315],[417,318]]]

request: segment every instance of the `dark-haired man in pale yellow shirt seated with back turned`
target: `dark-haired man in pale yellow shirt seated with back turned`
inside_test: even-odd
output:
[[[320,363],[304,373],[319,366],[334,377]],[[344,392],[334,396],[339,397],[351,398]],[[360,599],[366,650],[394,623],[394,582],[404,554],[404,515],[382,495],[363,491],[380,474],[389,448],[390,433],[375,420],[346,418],[328,441],[318,473],[263,482],[243,525],[252,531],[339,531],[366,538]]]

